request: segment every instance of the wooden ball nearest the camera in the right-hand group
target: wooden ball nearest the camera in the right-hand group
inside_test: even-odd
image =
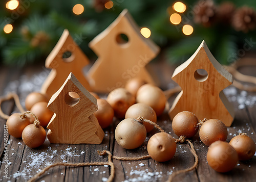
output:
[[[227,142],[216,141],[209,146],[207,161],[212,169],[228,172],[237,165],[238,153]]]

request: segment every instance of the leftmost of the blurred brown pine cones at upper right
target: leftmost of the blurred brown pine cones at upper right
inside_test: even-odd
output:
[[[194,12],[194,21],[205,27],[212,25],[217,17],[217,8],[212,0],[200,0],[194,7]]]

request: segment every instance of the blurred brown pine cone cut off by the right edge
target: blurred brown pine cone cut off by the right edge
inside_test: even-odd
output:
[[[241,7],[234,13],[232,25],[236,31],[244,33],[254,30],[256,28],[256,12],[252,8]]]

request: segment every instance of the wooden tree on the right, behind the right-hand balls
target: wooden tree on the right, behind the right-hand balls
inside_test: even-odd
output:
[[[198,119],[215,118],[226,126],[232,124],[233,107],[222,91],[232,84],[232,75],[212,56],[204,41],[186,62],[175,69],[172,79],[182,91],[169,111],[171,119],[181,111],[190,111]]]

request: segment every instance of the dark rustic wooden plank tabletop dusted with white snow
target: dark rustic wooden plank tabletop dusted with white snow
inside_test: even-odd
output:
[[[148,67],[154,75],[160,79],[162,89],[172,88],[175,83],[170,77],[174,66],[167,65],[164,61],[155,62]],[[256,76],[255,67],[242,67],[241,72]],[[46,79],[49,70],[44,66],[37,65],[23,69],[0,68],[0,95],[8,92],[18,93],[22,105],[26,96],[33,91],[39,91],[40,86]],[[228,139],[245,132],[256,142],[256,94],[238,90],[232,86],[226,88],[224,93],[231,101],[236,117],[231,127],[228,127]],[[101,95],[105,97],[106,95]],[[169,99],[172,105],[175,95]],[[203,99],[203,98],[201,98]],[[2,105],[5,113],[18,112],[13,101],[6,101]],[[8,136],[8,145],[4,143],[4,124],[6,120],[0,119],[0,181],[27,181],[42,168],[55,162],[85,163],[107,162],[107,157],[100,157],[97,150],[110,150],[119,157],[139,157],[147,154],[146,143],[156,130],[148,134],[145,143],[134,150],[126,150],[120,147],[114,138],[115,126],[119,120],[104,129],[105,137],[99,145],[62,145],[50,144],[48,140],[43,146],[31,149],[24,145],[22,139]],[[158,117],[158,124],[170,135],[177,138],[172,130],[167,111]],[[198,167],[190,172],[179,174],[173,181],[255,181],[256,180],[256,154],[249,161],[239,162],[230,172],[218,173],[211,169],[206,161],[207,146],[200,142],[199,136],[192,138],[196,152],[199,156]],[[174,158],[165,163],[155,162],[153,159],[141,161],[118,161],[113,160],[115,165],[114,181],[165,181],[169,174],[180,169],[193,166],[194,157],[189,151],[187,144],[177,145]],[[6,165],[8,167],[6,167]],[[5,171],[8,172],[6,178]],[[38,178],[37,181],[106,181],[110,175],[108,166],[90,167],[54,167]]]

